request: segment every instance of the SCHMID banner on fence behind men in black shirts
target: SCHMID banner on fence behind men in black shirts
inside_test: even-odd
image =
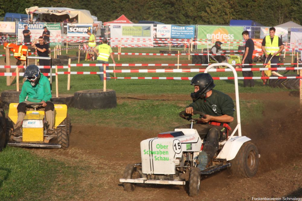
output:
[[[24,36],[23,30],[24,26],[28,26],[28,30],[31,31],[31,41],[38,39],[42,36],[44,31],[43,27],[47,27],[47,30],[50,32],[50,46],[61,44],[61,23],[36,23],[36,24],[27,24],[26,22],[18,23],[18,43],[23,43]]]

